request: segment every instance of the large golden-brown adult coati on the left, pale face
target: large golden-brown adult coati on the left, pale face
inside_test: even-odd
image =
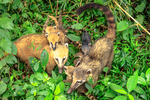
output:
[[[58,65],[59,73],[62,73],[63,66],[68,59],[68,43],[57,45],[56,50],[49,47],[48,40],[44,34],[29,34],[22,36],[14,42],[17,47],[17,57],[24,61],[30,68],[29,57],[40,59],[41,52],[46,49],[49,53],[49,61],[46,71],[51,75],[51,70]]]

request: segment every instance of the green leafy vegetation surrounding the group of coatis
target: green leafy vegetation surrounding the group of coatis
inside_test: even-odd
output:
[[[75,15],[78,7],[89,2],[105,5],[112,11],[117,33],[112,70],[105,77],[104,73],[99,76],[94,89],[86,84],[88,93],[98,100],[150,100],[150,36],[140,27],[150,31],[150,4],[146,0],[116,1],[138,24],[114,0],[0,0],[0,99],[87,99],[77,91],[67,94],[71,83],[63,83],[66,75],[59,74],[58,68],[52,77],[42,70],[48,60],[44,58],[48,56],[46,51],[42,52],[40,60],[30,58],[34,72],[28,72],[26,65],[14,56],[17,49],[13,42],[26,34],[41,34],[47,15],[58,16],[63,9],[64,28],[68,38],[75,41],[69,44],[66,65],[73,65],[74,54],[80,50],[80,29],[89,32],[93,43],[107,33],[107,20],[99,10],[90,9],[79,17]],[[107,70],[106,67],[104,72]]]

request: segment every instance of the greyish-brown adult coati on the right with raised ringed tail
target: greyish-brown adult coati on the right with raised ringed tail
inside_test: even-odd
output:
[[[78,8],[77,14],[80,15],[83,11],[89,8],[99,9],[104,12],[108,20],[108,32],[104,37],[101,37],[92,45],[87,54],[83,56],[78,66],[75,67],[73,81],[67,91],[68,93],[71,93],[80,85],[87,82],[89,76],[91,76],[93,81],[96,82],[104,67],[107,66],[111,69],[114,55],[113,43],[116,33],[114,16],[107,7],[96,3],[89,3]],[[96,83],[91,86],[94,88],[95,85]]]

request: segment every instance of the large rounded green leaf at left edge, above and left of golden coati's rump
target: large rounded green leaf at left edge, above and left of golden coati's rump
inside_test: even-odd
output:
[[[13,22],[10,18],[8,17],[2,17],[0,18],[0,26],[4,29],[13,29]]]

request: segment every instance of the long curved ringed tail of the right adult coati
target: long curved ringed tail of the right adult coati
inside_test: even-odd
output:
[[[115,25],[114,16],[111,13],[111,11],[107,7],[105,7],[105,6],[101,5],[101,4],[88,3],[88,4],[78,8],[76,13],[78,15],[80,15],[83,11],[85,11],[85,10],[87,10],[89,8],[99,9],[102,12],[104,12],[104,14],[107,17],[107,21],[108,21],[108,32],[107,32],[106,37],[107,38],[111,38],[111,39],[114,40],[115,39],[115,33],[116,33],[116,25]]]

